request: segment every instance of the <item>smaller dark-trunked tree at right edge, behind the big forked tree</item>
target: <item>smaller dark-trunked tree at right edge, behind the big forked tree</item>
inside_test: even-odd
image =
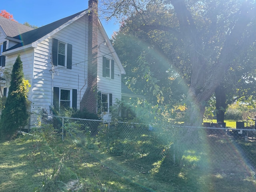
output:
[[[252,34],[252,33],[251,33]],[[224,80],[215,89],[216,118],[218,122],[224,122],[226,108],[236,101],[256,104],[256,46],[245,46],[247,49],[241,51],[235,59],[236,65],[230,68]]]

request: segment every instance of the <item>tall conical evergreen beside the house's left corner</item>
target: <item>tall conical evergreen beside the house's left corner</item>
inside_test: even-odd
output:
[[[22,61],[18,55],[11,74],[10,88],[0,119],[2,135],[11,137],[28,122],[28,89],[30,84],[24,79]]]

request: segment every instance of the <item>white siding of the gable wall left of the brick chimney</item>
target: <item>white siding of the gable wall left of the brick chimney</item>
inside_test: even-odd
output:
[[[49,106],[53,104],[53,87],[76,89],[78,93],[77,106],[79,108],[80,100],[86,90],[87,23],[86,16],[83,16],[38,44],[35,49],[32,88],[34,110],[46,108],[50,112]],[[63,66],[53,66],[52,68],[52,38],[72,44],[72,69]],[[53,76],[52,69],[54,71]]]

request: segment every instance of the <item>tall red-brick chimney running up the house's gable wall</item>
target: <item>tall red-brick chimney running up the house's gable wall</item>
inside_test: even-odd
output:
[[[88,76],[87,88],[80,103],[80,109],[97,113],[97,58],[98,58],[98,0],[89,0],[88,24]]]

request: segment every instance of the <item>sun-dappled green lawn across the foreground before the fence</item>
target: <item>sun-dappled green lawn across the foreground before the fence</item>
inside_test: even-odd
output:
[[[68,184],[79,178],[83,188],[80,191],[256,191],[255,178],[237,155],[234,155],[233,148],[230,147],[232,141],[227,138],[206,137],[203,142],[205,144],[200,145],[198,151],[192,147],[184,151],[181,166],[173,163],[171,150],[166,152],[164,158],[159,159],[154,156],[112,156],[102,150],[100,143],[88,148],[60,140],[44,143],[44,140],[24,141],[18,138],[1,142],[0,191],[28,192],[40,189],[44,173],[51,176],[54,167],[60,167],[61,171],[56,177],[58,182],[52,185]],[[240,142],[241,146],[246,147],[253,144]],[[255,156],[256,152],[251,151],[250,154]],[[222,158],[225,160],[221,160]],[[77,183],[76,188],[80,184]],[[48,191],[65,189],[57,186]]]

